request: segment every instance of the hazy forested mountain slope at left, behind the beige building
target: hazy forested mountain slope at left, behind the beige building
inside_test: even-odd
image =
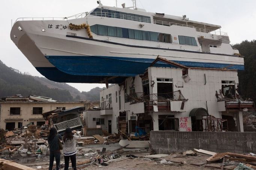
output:
[[[100,88],[96,87],[96,89]],[[99,100],[99,91],[94,89],[81,93],[66,83],[57,83],[46,78],[23,74],[0,61],[0,98],[15,94],[23,96],[36,94],[60,101]]]

